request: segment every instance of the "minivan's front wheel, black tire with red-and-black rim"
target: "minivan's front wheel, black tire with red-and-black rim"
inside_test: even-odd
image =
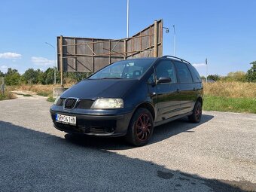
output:
[[[126,141],[137,147],[146,145],[151,139],[154,121],[147,108],[139,108],[133,114],[126,134]]]

